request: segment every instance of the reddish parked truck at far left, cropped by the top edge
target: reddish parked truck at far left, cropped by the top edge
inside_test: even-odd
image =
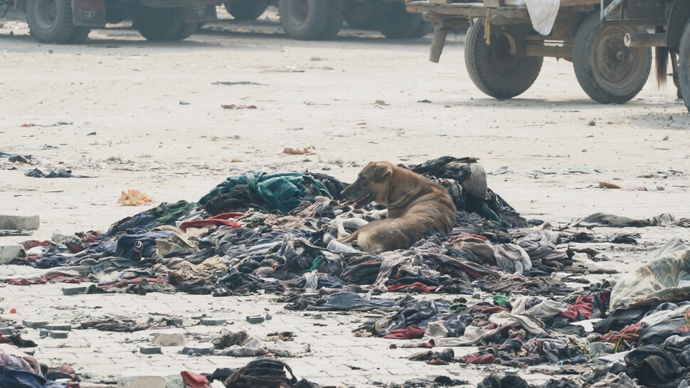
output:
[[[181,41],[216,19],[215,0],[0,0],[0,15],[12,7],[41,43],[81,43],[91,28],[123,20],[149,41]]]

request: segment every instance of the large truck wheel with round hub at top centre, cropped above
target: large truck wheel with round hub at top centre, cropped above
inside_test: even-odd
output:
[[[334,7],[331,0],[280,0],[280,23],[291,38],[316,41],[329,27]]]

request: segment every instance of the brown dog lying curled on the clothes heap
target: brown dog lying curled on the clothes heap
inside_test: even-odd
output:
[[[355,239],[363,251],[378,254],[409,248],[430,230],[450,235],[455,205],[441,185],[386,161],[371,162],[341,193],[355,208],[376,201],[388,208],[385,220],[369,222],[341,242]]]

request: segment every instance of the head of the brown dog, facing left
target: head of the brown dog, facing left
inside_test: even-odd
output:
[[[371,162],[360,171],[357,180],[347,186],[340,197],[346,200],[354,200],[356,209],[364,205],[381,201],[386,198],[388,179],[393,175],[393,164],[388,162]],[[385,203],[381,203],[386,205]]]

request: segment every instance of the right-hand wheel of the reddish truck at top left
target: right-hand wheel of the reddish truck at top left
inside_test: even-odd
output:
[[[148,41],[173,41],[181,33],[184,24],[184,11],[181,8],[154,9],[142,6],[132,26]]]

